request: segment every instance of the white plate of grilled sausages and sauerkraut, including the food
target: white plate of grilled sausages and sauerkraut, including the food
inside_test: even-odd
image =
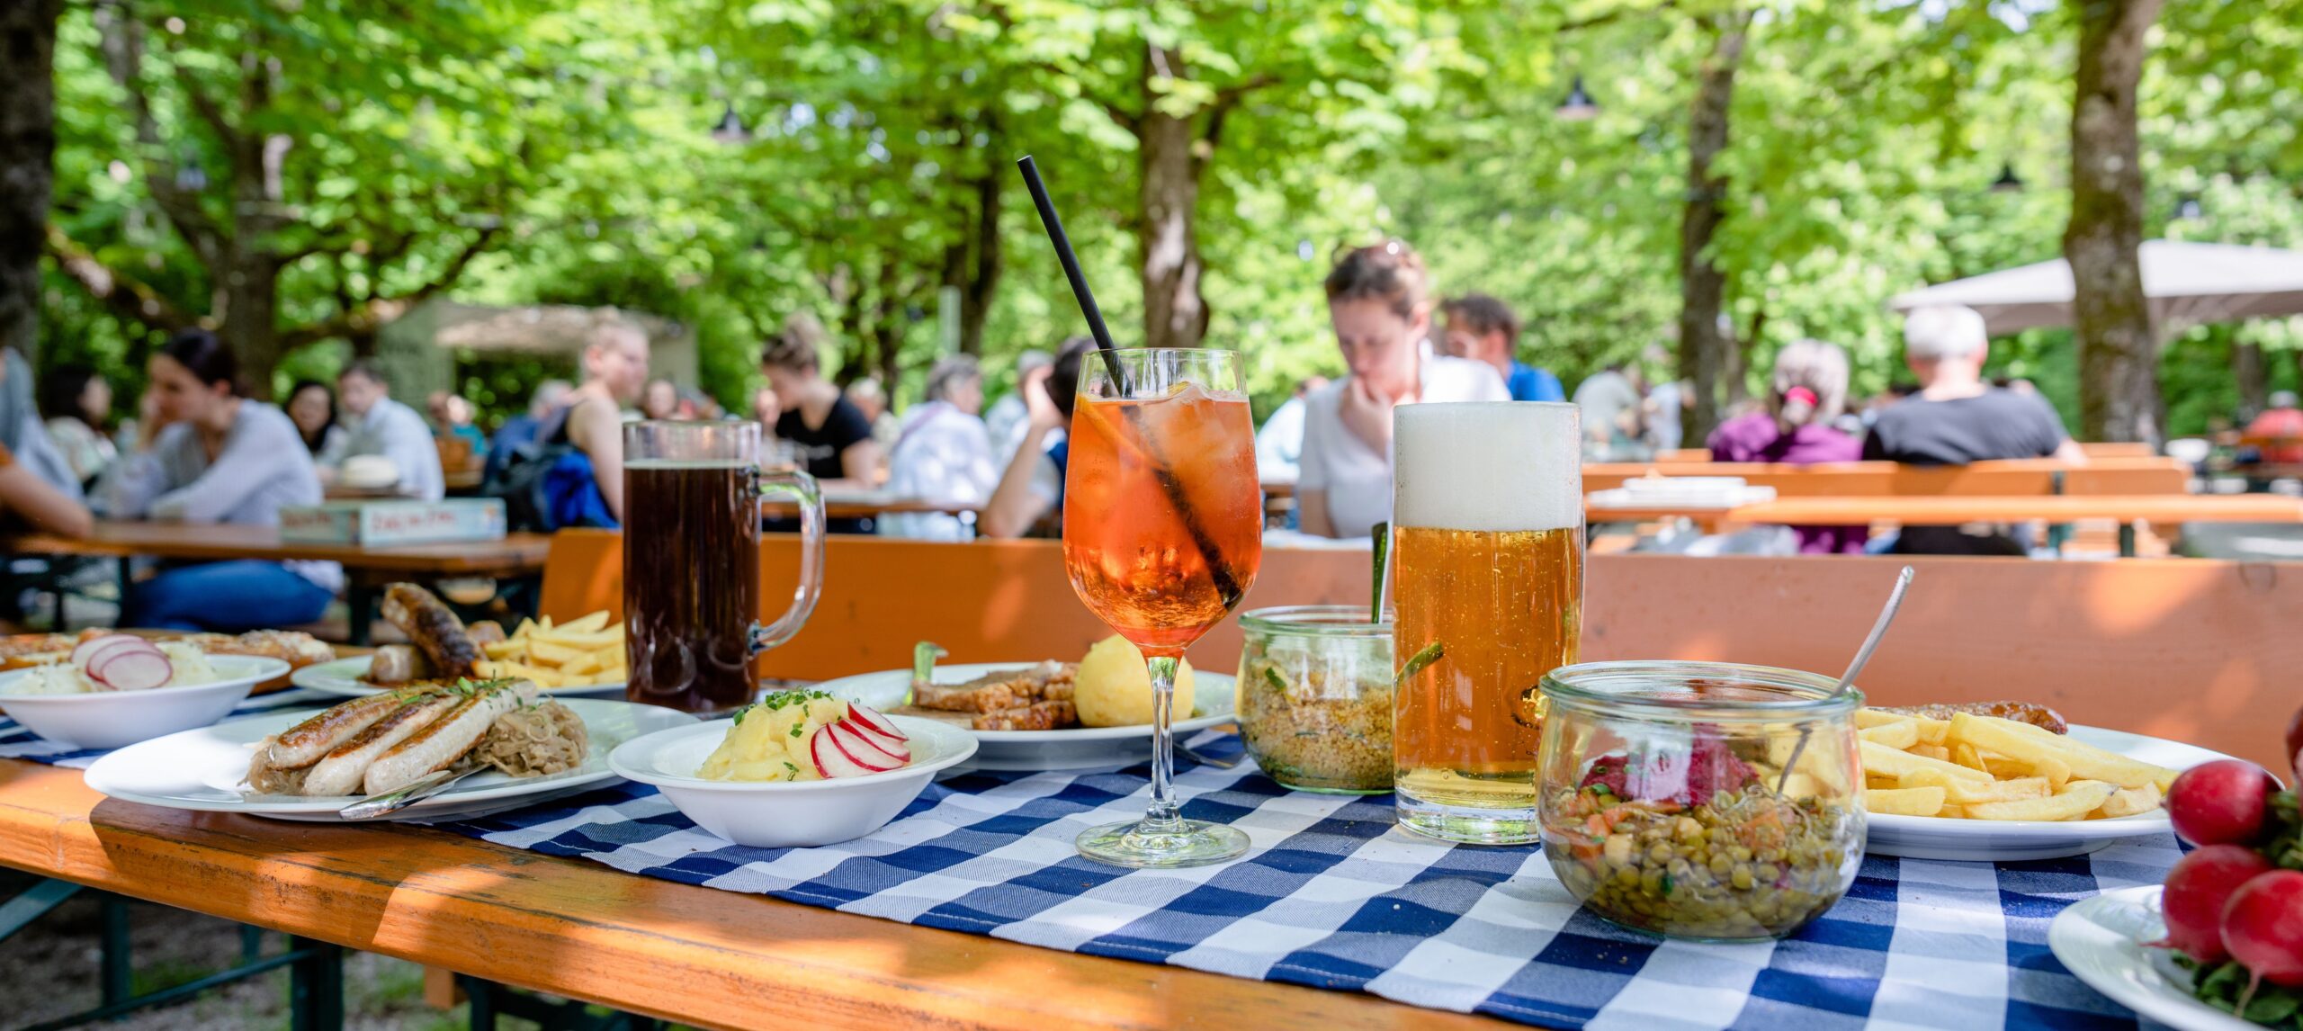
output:
[[[539,776],[509,776],[488,769],[484,773],[472,773],[454,787],[417,801],[394,815],[394,819],[468,819],[613,782],[617,778],[608,769],[608,753],[615,750],[615,746],[666,727],[696,723],[693,716],[672,709],[583,697],[514,702],[511,709],[493,713],[495,718],[486,723],[472,716],[470,707],[463,707],[468,702],[463,697],[449,697],[447,707],[435,711],[428,720],[403,718],[396,723],[392,716],[403,704],[419,707],[438,702],[438,697],[424,697],[421,690],[408,690],[389,697],[357,697],[325,711],[302,709],[290,713],[265,713],[246,720],[219,723],[214,727],[187,730],[129,746],[97,759],[88,766],[88,787],[120,801],[177,810],[339,822],[343,819],[339,810],[366,794],[366,780],[362,773],[375,771],[375,764],[394,757],[410,759],[403,762],[403,766],[415,764],[410,771],[419,771],[419,766],[477,762],[484,753],[493,753],[497,757],[511,753],[511,759],[520,759],[523,755],[534,757],[541,753],[548,757],[546,762],[571,764],[557,773]],[[355,707],[378,707],[382,711],[371,713]],[[580,723],[580,746],[571,743],[573,732],[557,723],[560,718],[546,718],[546,713],[553,713],[555,707],[560,713],[567,713],[567,718]],[[527,718],[530,723],[520,725],[525,730],[541,725],[546,734],[530,741],[511,736],[518,727],[511,723],[497,723],[507,713]],[[415,727],[405,727],[405,723],[415,723]],[[481,723],[477,736],[470,734],[472,723]],[[405,734],[392,736],[394,725],[403,727]],[[497,732],[497,725],[504,730]],[[309,736],[297,736],[295,732],[299,730]],[[382,736],[371,736],[371,730],[382,730]],[[433,734],[426,734],[428,730]],[[470,743],[465,743],[463,736],[472,736]],[[251,766],[260,753],[267,757],[276,755],[272,748],[279,743],[309,748],[311,755],[320,757],[318,762],[302,757],[288,759],[304,762],[304,766],[292,769],[299,771],[306,782],[309,778],[327,773],[336,780],[359,782],[359,787],[343,794],[263,794],[251,789]],[[433,748],[440,755],[424,755],[424,748]],[[334,766],[322,769],[322,764],[329,762]],[[348,764],[357,769],[345,771],[343,766]],[[283,785],[283,789],[295,787],[297,785]]]

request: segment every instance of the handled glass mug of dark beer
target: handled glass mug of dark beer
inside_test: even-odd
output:
[[[760,469],[760,423],[624,426],[624,697],[725,713],[758,693],[753,658],[792,640],[824,571],[824,502],[797,469]],[[760,626],[760,497],[799,504],[792,608]]]

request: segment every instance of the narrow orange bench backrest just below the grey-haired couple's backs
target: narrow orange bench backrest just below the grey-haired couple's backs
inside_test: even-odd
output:
[[[2052,495],[2057,472],[2066,495],[2181,495],[2190,472],[2174,458],[2103,458],[2066,465],[2052,458],[2017,458],[1953,467],[1895,463],[1587,463],[1584,490],[1619,488],[1647,476],[1741,476],[1771,486],[1783,497],[1884,497],[1884,495]]]

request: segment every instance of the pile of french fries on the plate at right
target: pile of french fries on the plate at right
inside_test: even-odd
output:
[[[1863,805],[1937,819],[2114,819],[2151,812],[2176,771],[2029,723],[1856,711]]]

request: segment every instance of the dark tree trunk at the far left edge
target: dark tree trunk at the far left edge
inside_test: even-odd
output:
[[[0,348],[39,357],[39,251],[55,184],[55,18],[62,0],[0,2]]]

